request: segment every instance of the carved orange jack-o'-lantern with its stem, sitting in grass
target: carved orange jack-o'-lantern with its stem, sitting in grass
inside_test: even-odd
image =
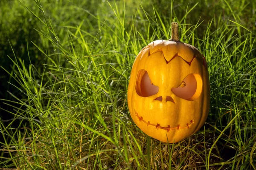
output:
[[[135,124],[162,142],[179,142],[198,131],[209,112],[209,74],[204,56],[180,42],[178,24],[170,40],[156,40],[136,57],[128,85]]]

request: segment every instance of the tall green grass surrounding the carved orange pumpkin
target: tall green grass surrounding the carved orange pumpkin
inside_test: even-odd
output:
[[[17,21],[25,36],[23,53],[0,53],[13,89],[2,92],[13,118],[0,119],[1,168],[256,169],[256,2],[20,1],[0,2],[12,16],[0,17],[1,44],[20,40]],[[172,21],[206,57],[211,100],[201,130],[167,144],[134,124],[127,87],[138,52],[168,40]]]

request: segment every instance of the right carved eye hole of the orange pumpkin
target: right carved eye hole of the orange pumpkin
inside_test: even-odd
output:
[[[203,82],[199,74],[189,74],[177,88],[172,88],[172,92],[183,99],[195,100],[202,91]]]

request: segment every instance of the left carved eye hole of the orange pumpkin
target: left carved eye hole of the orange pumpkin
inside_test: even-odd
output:
[[[159,87],[151,82],[148,72],[145,70],[138,72],[135,89],[137,94],[142,97],[152,96],[159,91]]]

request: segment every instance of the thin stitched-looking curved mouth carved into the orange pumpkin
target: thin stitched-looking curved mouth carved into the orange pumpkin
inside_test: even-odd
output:
[[[189,123],[186,124],[185,127],[181,127],[180,125],[177,125],[177,127],[170,127],[170,125],[168,125],[168,127],[162,127],[160,126],[160,124],[157,123],[157,125],[151,124],[149,121],[145,121],[143,119],[142,116],[140,116],[136,111],[135,111],[135,116],[137,116],[137,118],[140,120],[140,122],[144,122],[145,124],[147,124],[147,126],[154,126],[156,127],[156,129],[163,129],[163,130],[167,130],[167,132],[170,132],[171,130],[180,130],[180,129],[189,129],[189,127],[194,123],[194,119],[190,120]]]

